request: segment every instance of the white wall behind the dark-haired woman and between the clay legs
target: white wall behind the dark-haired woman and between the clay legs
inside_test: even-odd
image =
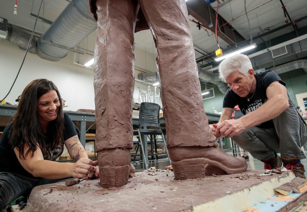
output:
[[[0,99],[4,98],[14,82],[25,51],[7,40],[0,40]],[[136,48],[135,66],[143,70],[156,71],[155,56]],[[36,54],[28,53],[19,76],[6,98],[6,102],[15,104],[15,99],[25,86],[34,79],[47,78],[54,82],[64,100],[65,110],[95,109],[93,79],[94,71],[73,64],[73,53],[58,62],[39,58]],[[146,55],[146,57],[145,57]],[[146,63],[145,63],[146,61]],[[138,72],[135,73],[137,78]],[[138,101],[140,87],[147,92],[148,86],[135,83],[134,100]],[[161,105],[161,100],[158,104]]]

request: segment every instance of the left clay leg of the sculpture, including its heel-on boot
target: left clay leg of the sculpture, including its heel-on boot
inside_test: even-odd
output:
[[[133,146],[136,2],[97,0],[95,123],[99,178],[104,188],[125,185]],[[134,172],[134,170],[132,170]]]

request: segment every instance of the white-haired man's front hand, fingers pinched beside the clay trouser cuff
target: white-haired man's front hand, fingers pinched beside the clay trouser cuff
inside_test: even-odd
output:
[[[213,132],[216,138],[222,136],[231,138],[232,136],[241,134],[245,130],[242,119],[225,120],[219,125],[213,124],[213,128],[216,128],[215,132]]]

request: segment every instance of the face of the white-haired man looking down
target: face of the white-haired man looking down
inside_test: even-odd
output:
[[[251,88],[254,79],[254,70],[250,69],[248,71],[248,76],[235,71],[228,75],[225,78],[225,82],[228,86],[238,94],[240,97],[246,97],[249,93],[251,93]],[[252,90],[254,92],[254,90]]]

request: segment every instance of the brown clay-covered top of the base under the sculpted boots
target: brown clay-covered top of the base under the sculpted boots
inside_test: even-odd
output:
[[[286,176],[274,174],[257,177],[251,170],[238,174],[205,178],[174,180],[171,171],[159,170],[156,175],[138,172],[128,184],[120,188],[104,189],[99,180],[83,180],[74,186],[64,182],[37,186],[30,195],[27,211],[189,211],[193,206],[209,202],[272,178]],[[248,174],[247,180],[238,177]],[[51,186],[56,186],[52,187]],[[50,192],[51,191],[51,192]]]

